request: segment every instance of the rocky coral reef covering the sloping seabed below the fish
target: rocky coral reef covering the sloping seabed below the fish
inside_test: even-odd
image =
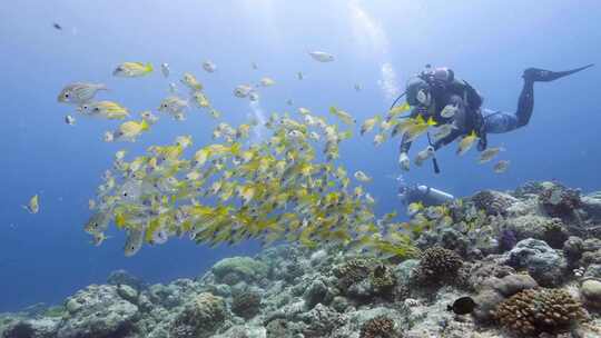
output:
[[[118,270],[0,314],[0,337],[601,337],[601,193],[532,182],[420,215],[418,259],[283,245],[167,284]],[[473,311],[447,311],[462,297]]]

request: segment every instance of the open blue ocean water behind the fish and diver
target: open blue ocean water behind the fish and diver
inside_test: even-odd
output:
[[[161,119],[134,145],[105,143],[114,122],[79,118],[75,127],[59,105],[60,89],[75,81],[104,82],[110,98],[131,111],[155,109],[167,93],[158,71],[141,79],[111,76],[122,61],[168,62],[171,72],[197,74],[224,119],[294,107],[326,113],[336,105],[358,121],[384,112],[406,79],[425,63],[449,66],[470,81],[491,109],[513,111],[526,67],[569,69],[599,62],[601,7],[579,1],[18,1],[0,11],[0,311],[45,301],[59,302],[111,270],[127,269],[149,282],[194,277],[220,258],[252,255],[255,242],[209,249],[188,240],[145,247],[125,258],[124,236],[99,248],[82,225],[100,176],[116,150],[139,153],[178,135],[210,142],[216,122],[190,113],[185,123]],[[62,30],[52,28],[58,22]],[[307,51],[325,50],[332,63]],[[206,73],[213,60],[218,71]],[[258,70],[253,70],[257,62]],[[157,69],[158,70],[158,69]],[[305,79],[298,81],[296,72]],[[239,83],[263,76],[277,80],[254,107],[233,96]],[[558,179],[584,191],[601,189],[599,68],[552,83],[536,83],[531,123],[490,136],[503,146],[510,170],[500,176],[462,158],[454,146],[439,151],[441,175],[413,168],[405,180],[456,196],[480,189],[513,189],[529,180]],[[355,83],[363,90],[356,92]],[[77,117],[77,116],[76,116]],[[344,143],[341,161],[373,176],[368,187],[380,212],[403,210],[396,198],[397,142],[375,148],[358,132]],[[423,148],[421,142],[415,149]],[[41,211],[21,208],[40,195]]]

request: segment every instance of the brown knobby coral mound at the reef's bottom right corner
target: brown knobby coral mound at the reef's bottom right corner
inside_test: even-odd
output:
[[[495,316],[502,326],[529,337],[569,331],[585,317],[570,294],[555,289],[521,291],[503,301]]]

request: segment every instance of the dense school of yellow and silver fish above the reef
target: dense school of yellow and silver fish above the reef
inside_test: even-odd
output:
[[[208,61],[203,68],[216,70]],[[125,62],[114,76],[134,78],[150,72],[150,63]],[[169,77],[167,63],[161,64],[161,72]],[[219,118],[191,73],[184,73],[180,82],[189,89],[189,97],[167,97],[159,103],[159,112],[184,121],[188,102],[193,102]],[[255,88],[275,83],[265,77]],[[238,86],[234,95],[254,100],[255,88]],[[82,116],[130,118],[129,110],[117,102],[95,101],[100,90],[107,87],[68,84],[58,101],[76,105]],[[96,198],[89,201],[93,215],[85,230],[96,246],[109,238],[106,233],[110,225],[126,231],[126,256],[135,255],[145,243],[160,245],[173,237],[188,237],[211,247],[247,239],[264,245],[286,240],[308,247],[339,243],[347,250],[380,256],[416,255],[406,231],[411,225],[394,223],[395,212],[381,219],[374,215],[375,199],[362,186],[372,178],[361,170],[349,175],[336,163],[339,143],[352,137],[356,121],[337,107],[329,113],[336,122],[329,123],[306,108],[292,115],[273,113],[260,126],[268,130],[268,137],[257,142],[248,140],[257,121],[239,126],[221,122],[214,129],[210,145],[194,148],[191,136],[180,136],[171,145],[150,146],[146,153],[132,158],[120,150],[115,153],[112,168],[104,173]],[[71,116],[65,120],[75,125]],[[157,121],[157,116],[145,111],[139,120],[125,121],[104,138],[135,141]]]

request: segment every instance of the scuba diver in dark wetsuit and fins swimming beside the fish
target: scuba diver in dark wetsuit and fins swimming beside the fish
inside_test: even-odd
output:
[[[445,67],[432,68],[427,64],[424,71],[408,80],[403,95],[406,95],[407,103],[413,107],[411,118],[421,115],[424,119],[432,117],[439,127],[447,123],[453,125],[447,136],[430,142],[427,148],[430,157],[433,159],[434,171],[437,173],[440,170],[434,157],[435,150],[471,132],[475,132],[480,139],[477,150],[485,150],[487,133],[504,133],[528,125],[534,109],[534,82],[550,82],[592,66],[594,64],[566,71],[550,71],[538,68],[524,70],[522,74],[524,84],[515,113],[482,109],[483,99],[479,92],[466,81],[457,79],[453,70]],[[393,107],[403,95],[395,100]],[[398,163],[404,170],[410,169],[407,156],[410,148],[411,140],[408,140],[407,135],[404,135],[398,157]]]

